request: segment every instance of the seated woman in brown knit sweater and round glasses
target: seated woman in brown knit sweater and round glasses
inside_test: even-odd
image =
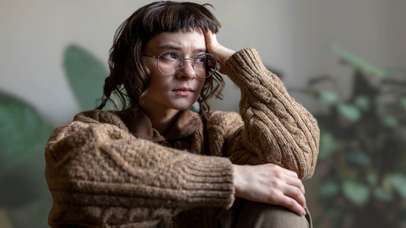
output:
[[[123,22],[102,105],[45,146],[51,227],[311,227],[300,180],[314,172],[317,121],[256,49],[220,45],[219,27],[190,2],[153,2]],[[217,71],[241,89],[241,116],[209,110]],[[103,111],[112,92],[130,107]]]

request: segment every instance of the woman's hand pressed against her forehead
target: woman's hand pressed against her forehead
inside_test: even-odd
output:
[[[220,63],[220,65],[217,66],[217,70],[220,71],[220,73],[227,75],[227,70],[224,67],[224,60],[234,54],[235,51],[220,45],[217,42],[216,34],[213,34],[212,31],[208,30],[206,33],[204,28],[202,28],[202,30],[206,38],[207,52],[214,55],[218,63]]]

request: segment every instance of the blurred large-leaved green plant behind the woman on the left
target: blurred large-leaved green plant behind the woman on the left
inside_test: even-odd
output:
[[[63,56],[80,110],[96,108],[108,76],[103,63],[77,45],[66,47]],[[45,181],[44,148],[61,124],[48,122],[30,104],[0,91],[0,208],[15,228],[49,227],[52,196]]]

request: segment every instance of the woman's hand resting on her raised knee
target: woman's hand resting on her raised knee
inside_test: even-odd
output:
[[[305,215],[304,187],[296,172],[275,164],[233,165],[235,196],[276,204]]]

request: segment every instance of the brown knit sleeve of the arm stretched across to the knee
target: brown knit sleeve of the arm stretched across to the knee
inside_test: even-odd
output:
[[[52,228],[150,227],[164,217],[234,201],[232,163],[134,137],[101,110],[76,114],[45,146]]]

